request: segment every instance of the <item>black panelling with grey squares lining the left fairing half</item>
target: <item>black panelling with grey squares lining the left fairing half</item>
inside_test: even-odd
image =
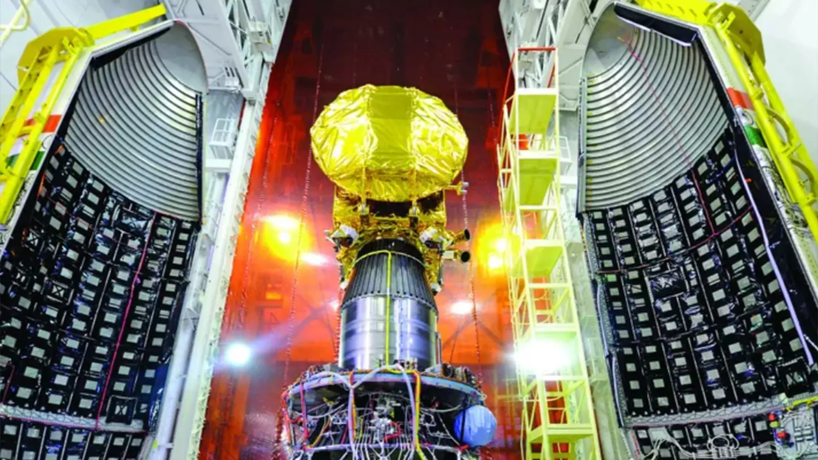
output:
[[[198,229],[57,151],[0,258],[2,404],[147,427]]]

